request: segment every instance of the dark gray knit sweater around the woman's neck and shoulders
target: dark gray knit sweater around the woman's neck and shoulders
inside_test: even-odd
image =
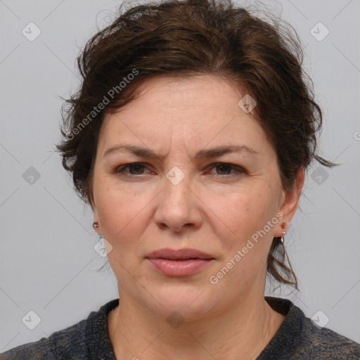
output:
[[[286,317],[255,360],[360,360],[357,342],[328,328],[318,328],[290,300],[269,296],[265,300]],[[118,304],[119,299],[112,300],[98,311],[92,311],[87,319],[56,331],[49,338],[0,354],[0,360],[116,360],[108,335],[107,316]]]

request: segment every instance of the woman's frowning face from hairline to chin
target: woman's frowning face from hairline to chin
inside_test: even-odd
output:
[[[94,165],[94,221],[120,297],[193,318],[263,297],[271,241],[298,196],[283,190],[274,148],[238,105],[245,94],[210,75],[139,89],[105,115]],[[210,260],[148,259],[164,248]]]

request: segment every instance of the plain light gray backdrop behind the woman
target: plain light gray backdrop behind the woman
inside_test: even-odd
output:
[[[113,273],[96,271],[103,258],[94,250],[91,209],[53,150],[63,103],[57,96],[76,89],[78,47],[119,5],[0,0],[0,352],[47,337],[117,297]],[[285,238],[300,293],[267,293],[293,300],[309,317],[323,311],[326,327],[360,342],[360,1],[283,0],[278,11],[306,45],[304,66],[324,110],[323,155],[342,165],[309,170]],[[30,22],[41,30],[34,41],[22,34]],[[311,34],[319,22],[330,30],[322,41]],[[39,179],[31,180],[30,167]],[[22,321],[30,310],[41,318],[34,330]]]

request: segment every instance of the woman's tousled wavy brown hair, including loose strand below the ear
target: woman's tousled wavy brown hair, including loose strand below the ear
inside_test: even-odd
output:
[[[293,188],[297,172],[307,169],[313,159],[333,167],[333,162],[317,155],[321,108],[302,69],[300,39],[291,25],[283,23],[263,20],[231,0],[148,2],[120,11],[77,58],[82,84],[63,108],[63,139],[56,147],[79,197],[92,207],[94,160],[104,113],[134,100],[141,79],[155,76],[218,75],[250,94],[257,101],[252,115],[276,149],[286,190]],[[280,240],[273,239],[267,273],[298,290]]]

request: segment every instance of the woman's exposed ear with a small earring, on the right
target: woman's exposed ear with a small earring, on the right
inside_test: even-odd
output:
[[[295,184],[293,189],[290,191],[283,191],[281,196],[281,206],[278,210],[283,217],[278,221],[276,229],[274,229],[274,236],[281,237],[283,236],[283,231],[288,231],[288,224],[293,219],[293,216],[297,210],[297,203],[302,191],[302,186],[304,185],[304,168],[300,168],[297,172]]]

